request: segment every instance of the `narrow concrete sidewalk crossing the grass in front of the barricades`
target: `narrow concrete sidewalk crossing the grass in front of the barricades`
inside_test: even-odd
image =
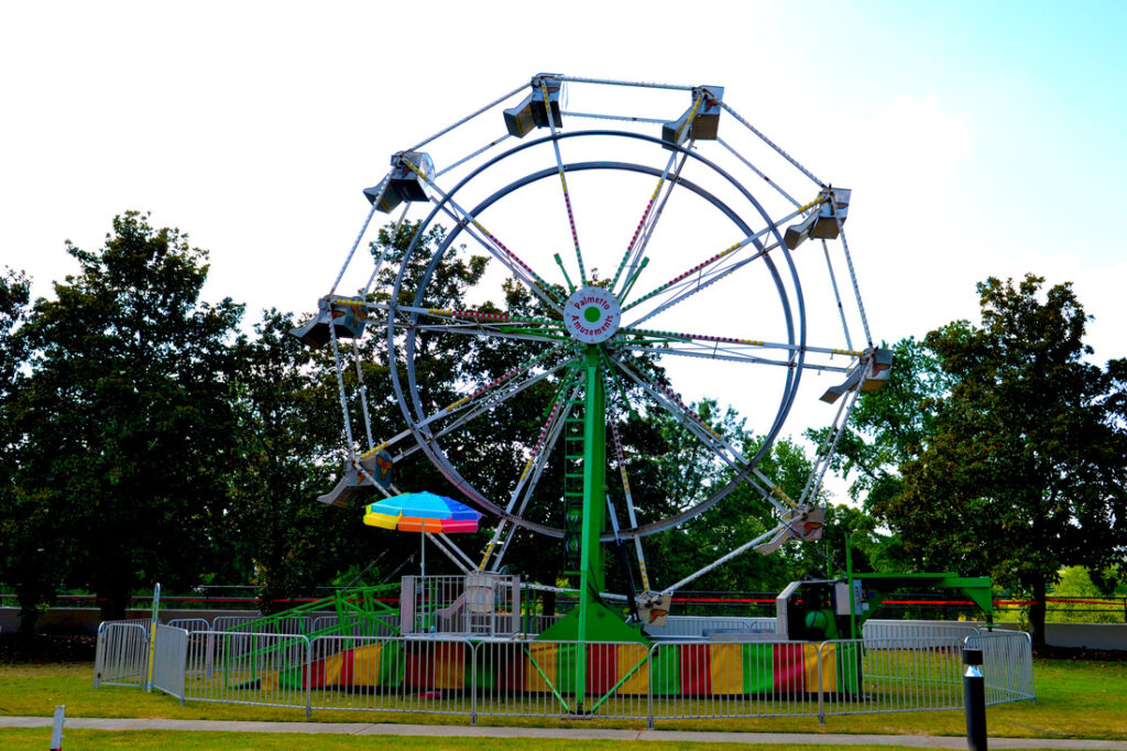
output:
[[[5,727],[51,727],[51,717],[0,717]],[[554,727],[482,727],[480,725],[394,725],[389,723],[259,723],[207,719],[130,719],[68,717],[64,731],[190,731],[234,733],[336,733],[341,735],[435,735],[442,737],[525,737],[557,741],[677,741],[700,743],[787,743],[823,745],[906,745],[919,749],[966,749],[965,737],[920,735],[846,735],[829,733],[708,733],[660,730],[598,730]],[[1127,741],[992,737],[992,749],[1115,749],[1127,751]]]

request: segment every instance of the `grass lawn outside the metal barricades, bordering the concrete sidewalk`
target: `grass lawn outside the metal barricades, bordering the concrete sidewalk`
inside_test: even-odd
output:
[[[55,705],[66,705],[69,717],[163,717],[179,719],[254,719],[254,721],[305,721],[301,709],[282,709],[240,705],[188,703],[180,706],[178,700],[161,695],[145,693],[139,689],[105,687],[92,688],[94,668],[90,663],[51,665],[0,665],[0,715],[50,716]],[[1127,712],[1124,712],[1127,696],[1127,663],[1085,662],[1063,660],[1038,660],[1033,663],[1037,701],[991,707],[987,710],[987,726],[993,736],[1013,737],[1084,737],[1101,740],[1127,740]],[[313,722],[354,723],[426,723],[463,725],[460,716],[425,714],[348,713],[314,710]],[[556,719],[530,717],[487,717],[481,725],[516,725],[547,727],[624,727],[641,730],[641,721],[613,719]],[[808,717],[780,717],[757,719],[696,719],[658,722],[658,730],[696,731],[758,731],[801,733],[882,733],[908,735],[956,735],[966,732],[961,712],[916,712],[897,714],[850,715],[827,717],[825,725]],[[453,728],[451,728],[453,731]],[[178,736],[187,736],[181,741]],[[5,749],[25,748],[27,739],[35,742],[26,748],[42,748],[50,732],[35,730],[0,731],[0,746]],[[286,741],[286,737],[290,740]],[[273,735],[239,735],[219,739],[214,734],[177,733],[150,731],[143,734],[113,733],[104,731],[68,731],[68,739],[82,739],[82,743],[70,745],[88,748],[116,748],[126,743],[134,749],[149,748],[292,748],[292,735],[275,740]],[[193,740],[195,739],[195,740]],[[318,736],[318,748],[352,748],[355,743],[372,743],[388,736]],[[428,748],[473,748],[488,743],[504,748],[505,742],[461,741],[442,739],[394,739],[405,748],[426,743]],[[87,742],[89,741],[89,743]],[[30,742],[30,741],[28,741]],[[175,743],[174,746],[169,744]],[[277,743],[277,745],[272,745]],[[340,743],[343,745],[336,745]],[[592,742],[598,743],[598,742]],[[569,743],[568,745],[574,745]],[[523,742],[522,745],[526,745]],[[538,742],[538,748],[544,748]],[[65,744],[64,744],[65,748]],[[549,746],[550,748],[550,746]],[[764,746],[761,746],[764,748]],[[813,748],[813,746],[811,746]],[[889,748],[889,746],[882,746]]]

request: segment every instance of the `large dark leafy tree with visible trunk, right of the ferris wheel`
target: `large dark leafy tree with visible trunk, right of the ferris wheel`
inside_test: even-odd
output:
[[[988,279],[980,326],[926,336],[950,390],[925,401],[934,430],[902,465],[903,491],[873,504],[924,565],[1031,594],[1036,644],[1058,572],[1107,568],[1127,546],[1127,434],[1115,414],[1124,365],[1085,362],[1083,307],[1070,284],[1042,284]]]

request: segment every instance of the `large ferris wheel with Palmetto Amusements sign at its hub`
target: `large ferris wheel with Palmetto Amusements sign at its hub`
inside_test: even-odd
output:
[[[364,192],[372,209],[332,290],[295,332],[331,345],[340,385],[349,459],[323,502],[397,493],[388,470],[421,451],[495,520],[480,560],[435,540],[464,571],[498,571],[514,536],[535,533],[562,542],[580,591],[602,592],[601,548],[616,541],[632,545],[646,598],[749,548],[819,537],[837,436],[859,392],[887,380],[890,353],[873,346],[845,241],[850,191],[724,96],[541,73],[392,157]],[[378,301],[385,249],[356,294],[338,294],[376,212],[416,228],[394,281]],[[462,277],[465,303],[451,307],[451,264],[473,255],[488,264]],[[387,347],[405,423],[393,436],[373,435],[358,366],[354,392],[346,385],[340,341],[365,333]],[[451,350],[465,357],[440,378],[435,353]],[[726,435],[702,412],[707,397],[735,405],[757,441]],[[788,422],[813,404],[820,423]],[[527,435],[490,439],[491,425],[530,415]],[[354,419],[366,434],[354,435]],[[717,469],[660,514],[629,474],[631,433],[654,424],[689,436],[692,461]],[[764,457],[784,425],[827,424],[801,493],[786,493]],[[765,531],[680,582],[650,582],[646,538],[736,492],[762,498]]]

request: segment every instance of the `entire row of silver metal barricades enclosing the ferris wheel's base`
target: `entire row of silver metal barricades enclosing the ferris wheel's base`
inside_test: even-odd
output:
[[[728,636],[728,635],[726,635]],[[925,636],[926,638],[922,638]],[[958,709],[965,647],[984,653],[987,705],[1035,698],[1029,637],[887,631],[787,642],[640,643],[317,636],[158,626],[153,686],[181,701],[480,716],[657,721]],[[141,686],[148,636],[99,634],[97,683]]]

